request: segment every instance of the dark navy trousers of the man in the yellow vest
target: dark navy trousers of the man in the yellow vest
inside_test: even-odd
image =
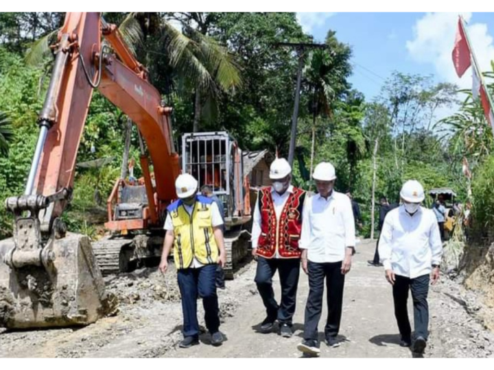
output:
[[[183,334],[199,335],[197,319],[197,301],[202,298],[206,312],[206,327],[211,334],[220,330],[220,309],[216,294],[216,264],[209,264],[200,269],[178,271],[178,287],[182,295],[182,310],[184,316]]]

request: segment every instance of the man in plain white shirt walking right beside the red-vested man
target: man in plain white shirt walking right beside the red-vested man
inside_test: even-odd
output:
[[[350,198],[334,190],[336,170],[333,165],[318,164],[313,177],[318,194],[307,201],[300,244],[310,291],[305,308],[304,341],[298,350],[319,356],[318,324],[325,282],[328,290],[326,344],[330,348],[339,346],[345,276],[351,270],[355,251],[355,220]]]

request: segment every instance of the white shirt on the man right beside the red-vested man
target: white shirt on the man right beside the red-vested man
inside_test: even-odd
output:
[[[302,221],[301,249],[315,263],[342,262],[346,248],[355,247],[355,220],[351,200],[333,191],[325,199],[311,197],[305,205]]]

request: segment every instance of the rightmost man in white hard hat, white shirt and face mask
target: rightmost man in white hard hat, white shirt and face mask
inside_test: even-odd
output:
[[[386,216],[379,243],[379,256],[386,269],[386,279],[393,287],[395,315],[401,345],[423,354],[429,335],[429,284],[439,280],[443,256],[439,227],[432,210],[421,207],[423,186],[407,182],[401,190],[403,205]],[[412,291],[415,340],[408,319],[408,294]]]

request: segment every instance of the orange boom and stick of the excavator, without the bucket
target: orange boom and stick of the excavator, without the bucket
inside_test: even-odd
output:
[[[108,47],[102,47],[102,34],[118,58]],[[148,81],[145,69],[132,56],[117,27],[104,22],[100,12],[67,12],[59,40],[26,195],[46,197],[73,188],[75,160],[96,87],[136,123],[148,145],[158,205],[152,205],[154,190],[150,183],[148,199],[156,222],[157,208],[175,198],[174,179],[180,171],[169,124],[170,110],[161,105],[161,95]],[[49,206],[43,217],[43,230],[51,230],[66,204],[64,199]]]

